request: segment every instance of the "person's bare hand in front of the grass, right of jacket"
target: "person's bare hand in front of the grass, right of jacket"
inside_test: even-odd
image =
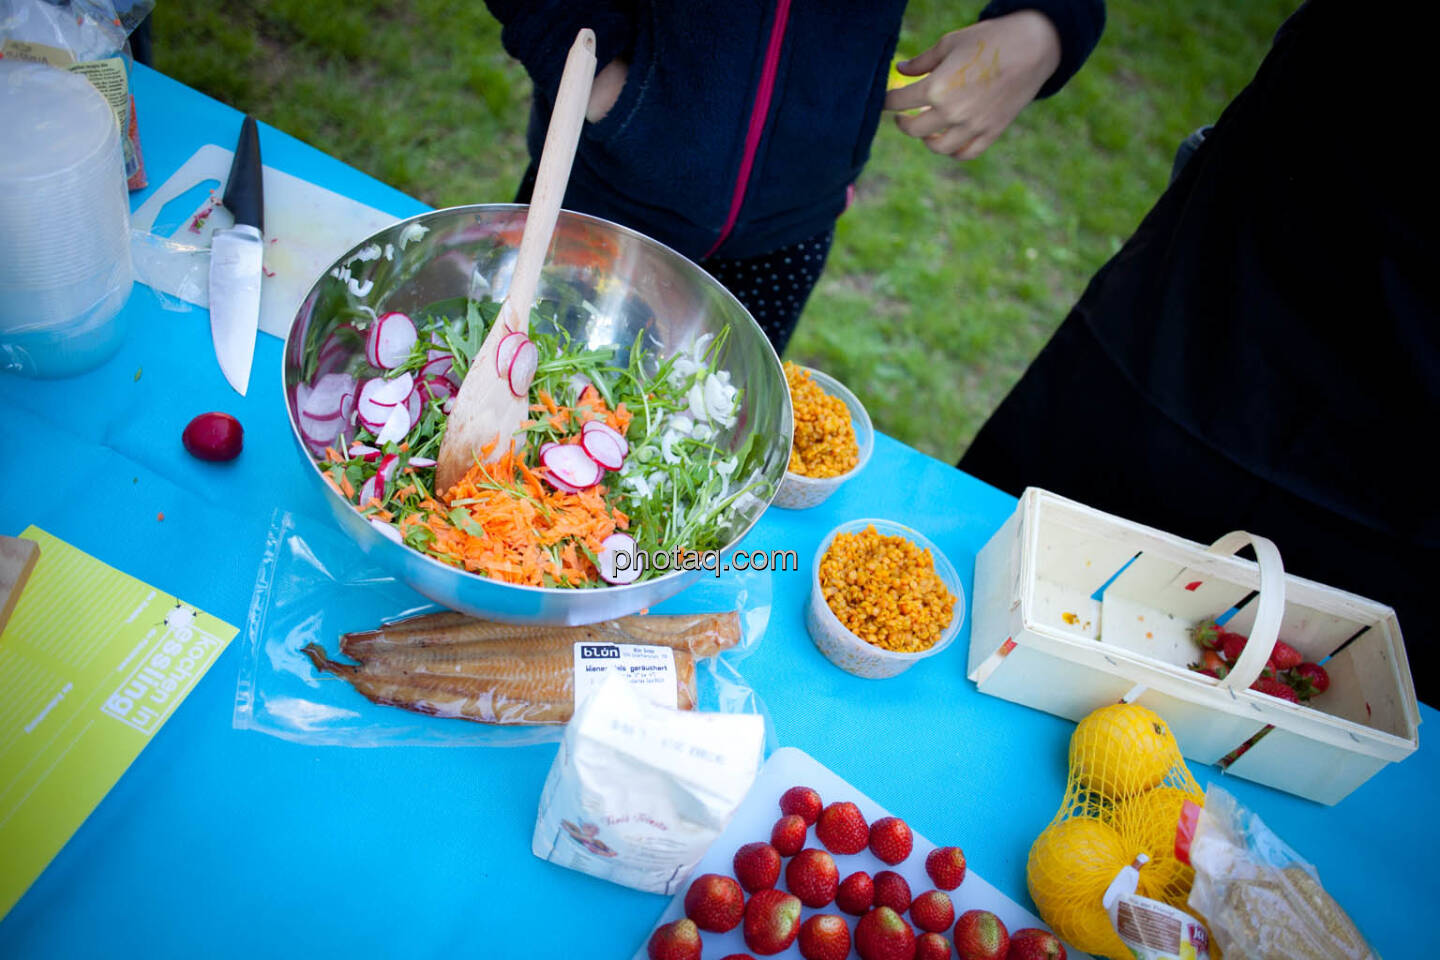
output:
[[[1020,10],[946,33],[900,63],[906,76],[929,76],[890,91],[886,109],[920,108],[896,117],[896,125],[937,154],[973,160],[1005,132],[1058,65],[1054,24],[1043,13]]]

